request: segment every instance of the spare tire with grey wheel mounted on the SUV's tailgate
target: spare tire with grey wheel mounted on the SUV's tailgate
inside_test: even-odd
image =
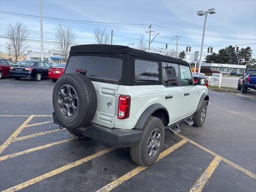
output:
[[[52,102],[60,124],[74,129],[90,123],[96,113],[97,95],[86,75],[66,73],[54,86]]]

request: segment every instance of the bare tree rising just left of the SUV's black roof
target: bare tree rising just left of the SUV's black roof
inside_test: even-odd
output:
[[[64,61],[68,60],[68,54],[70,47],[74,44],[76,40],[76,32],[73,30],[72,26],[66,26],[58,24],[55,28],[55,39],[56,39],[56,49],[64,57]]]

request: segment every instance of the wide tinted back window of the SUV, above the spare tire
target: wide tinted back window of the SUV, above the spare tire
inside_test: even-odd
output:
[[[120,80],[123,60],[118,58],[97,56],[71,56],[66,73],[74,73],[76,69],[86,70],[86,76],[105,80]]]

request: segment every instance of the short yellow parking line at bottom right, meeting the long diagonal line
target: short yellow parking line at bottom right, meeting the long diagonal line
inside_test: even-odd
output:
[[[204,173],[195,182],[194,186],[190,189],[189,192],[201,192],[209,178],[212,176],[214,170],[217,168],[220,161],[221,159],[219,157],[215,157],[214,160],[212,160],[212,162],[210,163],[210,165],[206,168]]]

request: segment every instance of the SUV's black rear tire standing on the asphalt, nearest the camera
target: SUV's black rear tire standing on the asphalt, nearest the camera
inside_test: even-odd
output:
[[[156,132],[156,135],[158,135],[158,131],[160,133],[159,142],[158,140],[154,141],[156,139],[150,140],[150,134],[152,136],[152,134]],[[152,146],[153,144],[152,142],[154,142],[155,144],[154,147]],[[149,144],[150,146],[148,148]],[[142,138],[140,142],[130,147],[131,158],[136,164],[139,164],[141,166],[150,166],[151,164],[154,164],[154,162],[157,160],[160,152],[162,151],[163,144],[164,144],[164,124],[162,120],[160,120],[159,118],[151,116],[143,128]],[[156,146],[158,146],[157,150],[156,150]],[[156,152],[154,152],[154,149],[156,150]],[[150,154],[149,154],[149,151],[151,151]],[[150,155],[152,156],[150,157]]]

